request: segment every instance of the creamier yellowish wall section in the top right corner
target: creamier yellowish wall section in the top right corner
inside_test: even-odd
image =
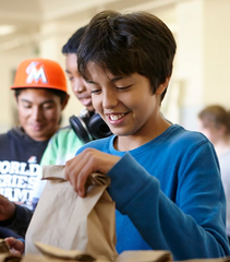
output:
[[[204,104],[230,109],[230,1],[206,0],[204,15]]]

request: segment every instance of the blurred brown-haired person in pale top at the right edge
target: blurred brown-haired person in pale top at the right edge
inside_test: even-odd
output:
[[[214,144],[220,164],[227,199],[227,236],[230,241],[230,112],[220,105],[205,107],[198,114],[199,130]]]

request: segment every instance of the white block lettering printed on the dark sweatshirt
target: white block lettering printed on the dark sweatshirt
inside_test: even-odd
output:
[[[36,156],[31,156],[27,163],[0,162],[0,194],[16,204],[32,209],[33,189],[40,171]]]

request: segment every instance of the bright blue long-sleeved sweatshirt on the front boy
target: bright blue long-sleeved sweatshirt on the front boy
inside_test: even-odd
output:
[[[122,158],[107,174],[116,202],[117,250],[169,250],[174,260],[230,254],[226,199],[211,143],[172,124],[130,152],[114,135],[87,143]]]

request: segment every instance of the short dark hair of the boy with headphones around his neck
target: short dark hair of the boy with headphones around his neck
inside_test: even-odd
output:
[[[85,33],[86,25],[78,28],[68,40],[68,43],[62,47],[62,53],[66,55],[70,52],[76,53],[81,39]]]

